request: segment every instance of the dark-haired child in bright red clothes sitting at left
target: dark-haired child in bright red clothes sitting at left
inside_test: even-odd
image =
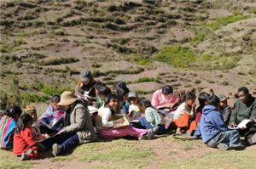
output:
[[[24,114],[17,122],[14,136],[14,154],[20,156],[21,161],[35,160],[41,157],[38,145],[32,136],[32,117]]]

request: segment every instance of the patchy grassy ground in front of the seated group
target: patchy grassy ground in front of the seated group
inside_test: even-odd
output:
[[[0,151],[0,168],[256,168],[256,146],[243,151],[207,148],[201,140],[173,138],[151,141],[116,139],[82,144],[68,155],[20,161],[10,151]],[[254,159],[254,160],[253,160]]]

